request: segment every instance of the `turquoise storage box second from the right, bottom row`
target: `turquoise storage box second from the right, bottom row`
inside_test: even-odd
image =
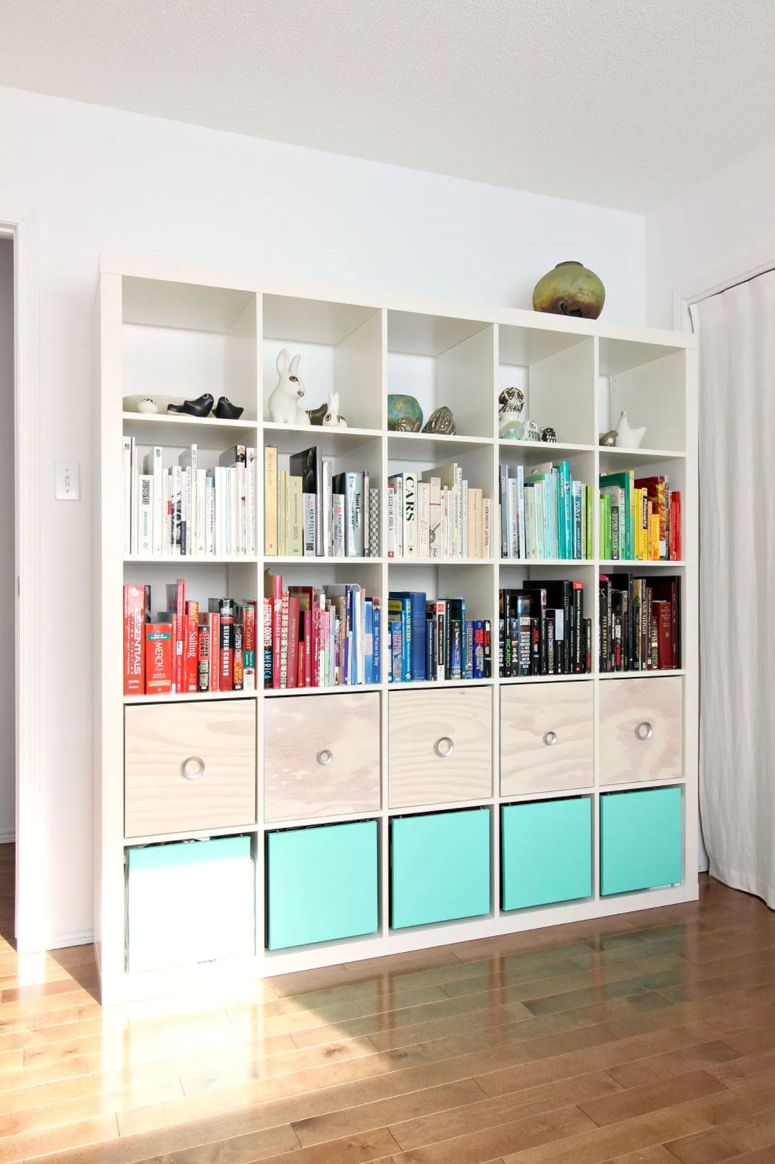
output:
[[[500,863],[503,909],[591,896],[590,797],[504,804]]]

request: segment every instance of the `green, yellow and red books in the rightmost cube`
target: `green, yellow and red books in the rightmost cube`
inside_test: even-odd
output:
[[[681,560],[681,494],[668,477],[603,474],[598,504],[604,561]]]

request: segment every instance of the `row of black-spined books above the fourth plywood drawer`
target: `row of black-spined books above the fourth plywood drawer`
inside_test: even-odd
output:
[[[584,618],[584,583],[524,582],[498,591],[498,673],[583,675],[592,669],[592,620]]]

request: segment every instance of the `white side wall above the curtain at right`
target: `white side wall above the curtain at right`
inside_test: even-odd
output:
[[[742,154],[646,220],[647,320],[673,326],[673,292],[705,290],[775,265],[775,137]]]

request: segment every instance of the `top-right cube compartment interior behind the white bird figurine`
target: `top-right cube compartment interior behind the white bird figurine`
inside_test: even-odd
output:
[[[631,428],[646,427],[645,449],[687,447],[687,349],[631,340],[599,340],[600,432],[621,412]]]

